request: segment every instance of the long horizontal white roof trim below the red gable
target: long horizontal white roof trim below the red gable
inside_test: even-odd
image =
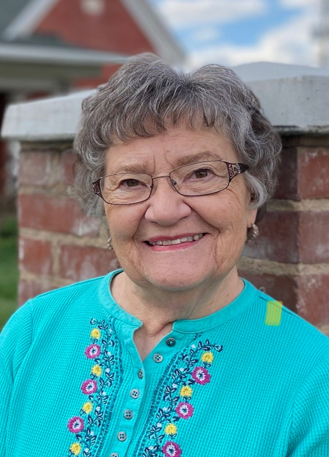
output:
[[[18,44],[0,44],[0,62],[40,62],[46,64],[103,65],[123,64],[128,56],[78,48],[53,48]]]

